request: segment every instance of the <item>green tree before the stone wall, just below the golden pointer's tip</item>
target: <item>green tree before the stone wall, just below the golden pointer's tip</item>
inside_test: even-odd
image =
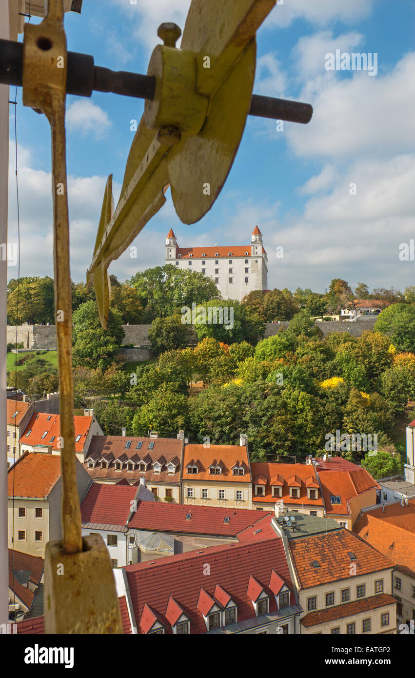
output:
[[[73,365],[84,365],[104,371],[111,365],[125,336],[118,311],[110,308],[108,327],[101,326],[94,301],[81,304],[73,313]]]

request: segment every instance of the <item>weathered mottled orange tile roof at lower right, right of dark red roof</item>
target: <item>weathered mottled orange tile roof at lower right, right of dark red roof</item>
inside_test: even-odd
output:
[[[302,589],[349,578],[351,563],[355,563],[357,575],[394,566],[389,558],[349,530],[293,539],[290,551]],[[349,552],[354,553],[356,559],[351,560]],[[319,567],[315,567],[313,561],[317,561]]]

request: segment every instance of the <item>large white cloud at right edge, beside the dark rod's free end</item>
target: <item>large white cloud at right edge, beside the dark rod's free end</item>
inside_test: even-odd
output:
[[[308,125],[289,125],[287,140],[298,156],[390,157],[415,149],[415,52],[386,75],[319,77],[306,83],[302,101],[313,105]]]

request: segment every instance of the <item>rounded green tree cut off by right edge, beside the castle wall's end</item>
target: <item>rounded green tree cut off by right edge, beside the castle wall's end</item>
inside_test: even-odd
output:
[[[415,351],[415,304],[392,304],[384,308],[374,330],[386,334],[397,351]]]

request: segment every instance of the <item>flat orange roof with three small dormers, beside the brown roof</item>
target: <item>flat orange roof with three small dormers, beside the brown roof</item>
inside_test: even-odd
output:
[[[245,464],[244,475],[233,475],[232,466],[235,464],[235,458]],[[210,475],[209,466],[214,461],[222,462],[222,473],[220,475]],[[187,473],[186,467],[192,462],[197,462],[198,473]],[[215,484],[221,480],[235,483],[250,483],[251,474],[250,458],[246,445],[184,445],[184,457],[182,468],[183,480],[203,480],[213,481]]]

